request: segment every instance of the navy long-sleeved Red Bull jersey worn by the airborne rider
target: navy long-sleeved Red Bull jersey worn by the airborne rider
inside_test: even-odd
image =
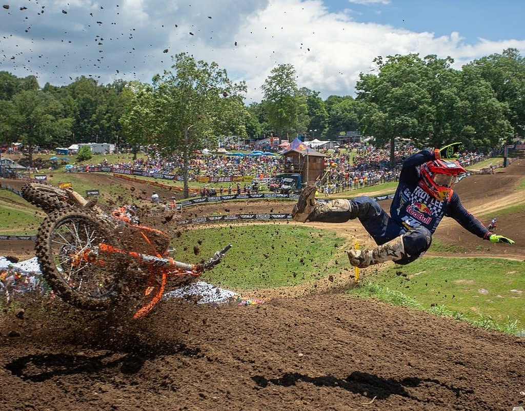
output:
[[[423,226],[431,233],[434,233],[444,216],[452,217],[470,233],[487,238],[489,230],[463,207],[453,190],[451,195],[440,201],[419,186],[419,166],[431,160],[435,160],[434,153],[423,150],[403,162],[399,184],[390,206],[391,217],[407,230]]]

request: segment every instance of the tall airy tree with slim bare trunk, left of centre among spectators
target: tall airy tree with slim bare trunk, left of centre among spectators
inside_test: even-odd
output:
[[[246,135],[246,86],[233,83],[215,62],[195,61],[186,53],[174,60],[172,71],[153,76],[151,101],[145,104],[154,113],[151,130],[163,154],[182,154],[187,197],[188,164],[194,151],[215,144],[216,136],[226,131]]]

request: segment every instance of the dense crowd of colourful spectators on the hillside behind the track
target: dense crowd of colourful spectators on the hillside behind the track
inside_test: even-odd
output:
[[[320,191],[329,195],[341,191],[359,189],[375,184],[397,181],[403,160],[421,149],[409,144],[398,144],[394,152],[394,163],[390,163],[390,147],[375,147],[371,144],[359,142],[352,143],[335,150],[321,151],[324,157],[325,173],[320,176],[318,184]],[[181,156],[165,158],[159,152],[150,151],[148,157],[134,161],[108,163],[104,160],[98,166],[110,166],[117,170],[140,170],[149,174],[161,173],[169,175],[183,174],[183,160]],[[489,155],[481,152],[464,152],[460,161],[468,167],[485,160]],[[249,154],[225,155],[201,153],[197,154],[188,165],[188,180],[198,181],[199,177],[232,177],[251,176],[254,179],[271,179],[282,173],[284,160],[281,155]],[[228,184],[228,183],[226,183]],[[226,192],[238,192],[239,184],[233,187],[224,187]],[[241,187],[242,192],[250,189],[250,185]],[[221,190],[223,191],[223,190]],[[201,195],[209,196],[222,194],[215,189],[203,189]]]

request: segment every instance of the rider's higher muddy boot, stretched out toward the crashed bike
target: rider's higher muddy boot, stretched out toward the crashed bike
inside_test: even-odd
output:
[[[345,199],[329,202],[316,201],[317,187],[309,185],[303,188],[299,200],[292,209],[292,218],[299,223],[318,221],[322,223],[344,223],[357,217],[357,207]]]

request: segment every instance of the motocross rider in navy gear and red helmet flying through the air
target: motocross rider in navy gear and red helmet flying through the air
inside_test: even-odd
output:
[[[316,201],[316,186],[308,185],[293,207],[292,218],[301,223],[344,223],[359,218],[377,244],[372,249],[348,251],[350,264],[360,268],[388,260],[396,264],[414,261],[428,250],[432,234],[445,216],[492,243],[514,244],[510,238],[492,234],[484,227],[465,209],[452,189],[456,178],[466,172],[457,161],[461,150],[461,143],[453,143],[441,150],[423,150],[407,157],[390,216],[367,196]]]

